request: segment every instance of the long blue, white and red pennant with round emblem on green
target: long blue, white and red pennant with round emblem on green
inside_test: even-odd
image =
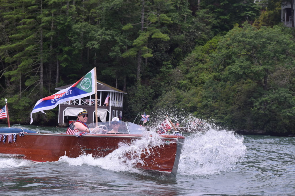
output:
[[[72,86],[37,101],[31,112],[31,124],[33,122],[33,113],[41,111],[42,113],[46,114],[43,110],[50,110],[65,101],[83,98],[94,94],[96,85],[96,78],[94,76],[94,69],[92,69]]]

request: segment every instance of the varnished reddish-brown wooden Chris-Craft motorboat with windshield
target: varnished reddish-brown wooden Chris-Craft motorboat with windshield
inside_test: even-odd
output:
[[[131,144],[142,139],[142,126],[122,122],[120,134],[107,134],[111,123],[91,123],[91,134],[67,135],[65,133],[39,133],[22,128],[0,128],[0,153],[36,162],[58,161],[66,155],[76,158],[91,154],[94,158],[104,157],[119,148],[119,143]],[[152,137],[152,135],[150,135]],[[142,163],[135,165],[144,170],[168,172],[176,175],[184,142],[181,135],[160,135],[162,142],[137,152]],[[126,157],[130,157],[128,153]]]

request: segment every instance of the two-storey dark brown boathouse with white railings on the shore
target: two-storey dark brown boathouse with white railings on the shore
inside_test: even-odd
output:
[[[55,88],[63,90],[73,84]],[[123,95],[127,94],[117,88],[109,86],[101,81],[96,81],[97,85],[97,122],[111,121],[112,118],[122,118]],[[106,97],[109,95],[109,103],[104,104]],[[67,127],[69,121],[76,120],[77,112],[86,109],[88,120],[86,124],[95,122],[95,95],[88,97],[66,101],[58,105],[58,125],[59,127]]]

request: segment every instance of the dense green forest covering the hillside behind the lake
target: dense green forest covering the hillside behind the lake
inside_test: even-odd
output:
[[[281,0],[257,2],[1,0],[0,107],[29,124],[37,100],[96,67],[128,93],[124,121],[170,110],[294,134],[294,28]],[[33,124],[56,126],[58,107],[46,113]]]

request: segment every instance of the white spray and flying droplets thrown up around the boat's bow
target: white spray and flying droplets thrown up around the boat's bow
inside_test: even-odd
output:
[[[153,148],[165,143],[156,133],[157,126],[165,119],[165,115],[162,116],[163,118],[157,119],[158,121],[155,121],[155,117],[150,121],[145,127],[149,131],[143,132],[142,139],[134,140],[131,144],[119,143],[119,148],[106,157],[95,159],[82,155],[75,158],[76,162],[84,162],[107,170],[142,173],[142,170],[136,167],[138,164],[146,165],[141,157],[142,152],[145,156],[158,156]],[[170,115],[169,118],[173,123],[178,122],[179,126],[188,130],[183,132],[186,139],[178,164],[178,175],[207,176],[230,171],[247,153],[247,148],[243,144],[244,138],[232,131],[224,130],[214,123],[194,118],[192,115],[188,117]],[[73,164],[72,161],[75,159],[67,161]]]

